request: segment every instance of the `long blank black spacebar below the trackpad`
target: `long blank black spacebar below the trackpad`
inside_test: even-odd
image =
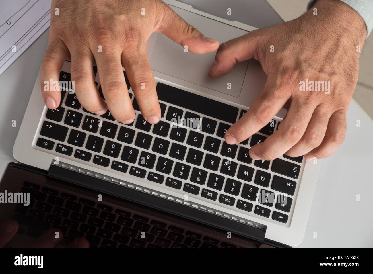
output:
[[[163,83],[157,84],[158,99],[228,123],[235,123],[238,108]]]

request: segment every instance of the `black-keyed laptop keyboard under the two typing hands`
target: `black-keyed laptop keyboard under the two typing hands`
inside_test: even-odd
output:
[[[228,145],[226,130],[246,110],[161,82],[156,88],[162,110],[156,125],[145,121],[130,88],[136,112],[131,125],[117,122],[110,111],[90,113],[75,94],[62,91],[60,106],[41,117],[34,148],[101,168],[103,174],[110,170],[162,185],[165,191],[179,190],[211,208],[219,205],[288,226],[303,157],[253,161],[248,154],[276,130],[279,120],[238,145]]]

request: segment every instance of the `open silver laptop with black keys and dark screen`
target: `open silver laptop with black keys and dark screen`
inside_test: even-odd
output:
[[[220,43],[256,29],[255,23],[225,19],[225,3],[211,14],[198,1],[165,2]],[[266,11],[262,18],[277,16],[265,1],[253,3]],[[142,117],[124,70],[137,114],[131,125],[117,122],[110,110],[89,113],[64,88],[59,107],[48,110],[39,72],[13,147],[18,163],[8,165],[1,181],[2,192],[30,193],[28,206],[1,205],[6,210],[0,221],[20,224],[9,246],[35,241],[51,227],[63,231],[65,245],[85,237],[92,248],[298,245],[320,161],[248,156],[250,147],[277,130],[286,111],[238,145],[224,141],[264,87],[260,64],[241,62],[228,75],[210,79],[215,53],[185,52],[162,34],[151,35],[147,53],[162,110],[156,125]],[[65,62],[60,83],[69,79]]]

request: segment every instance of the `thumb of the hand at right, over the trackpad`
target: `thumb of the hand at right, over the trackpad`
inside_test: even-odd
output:
[[[216,52],[215,62],[210,68],[209,76],[216,78],[229,73],[236,63],[252,58],[258,60],[259,39],[260,36],[254,31],[221,44]]]

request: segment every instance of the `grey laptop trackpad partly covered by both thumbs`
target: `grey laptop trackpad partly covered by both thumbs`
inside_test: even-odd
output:
[[[172,9],[205,36],[218,40],[220,44],[247,33],[242,29],[177,7],[172,7]],[[248,61],[236,64],[227,75],[211,79],[207,73],[214,63],[216,51],[206,54],[185,51],[181,45],[176,44],[165,35],[157,34],[149,59],[151,68],[206,88],[239,97]]]

